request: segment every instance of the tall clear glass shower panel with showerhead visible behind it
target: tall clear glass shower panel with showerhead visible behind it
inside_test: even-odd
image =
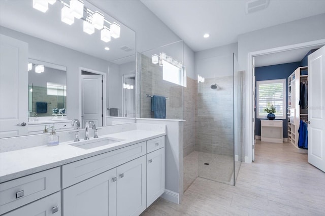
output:
[[[197,60],[198,176],[234,185],[234,55]]]

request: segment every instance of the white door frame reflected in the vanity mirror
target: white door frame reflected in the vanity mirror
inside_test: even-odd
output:
[[[85,67],[79,67],[79,119],[81,122],[81,115],[82,115],[82,95],[81,95],[81,91],[82,91],[82,76],[81,73],[82,71],[87,71],[90,73],[94,73],[94,74],[98,74],[98,75],[102,75],[103,76],[103,126],[106,126],[106,76],[107,73],[105,72],[101,72],[101,71],[97,71],[97,70],[92,70],[89,68],[85,68]]]

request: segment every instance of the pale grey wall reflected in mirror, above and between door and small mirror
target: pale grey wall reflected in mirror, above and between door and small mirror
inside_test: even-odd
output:
[[[67,117],[79,119],[80,67],[108,72],[108,61],[61,47],[46,40],[0,27],[2,34],[28,43],[28,58],[67,67]],[[27,67],[27,66],[26,66]],[[28,107],[26,107],[26,110]]]

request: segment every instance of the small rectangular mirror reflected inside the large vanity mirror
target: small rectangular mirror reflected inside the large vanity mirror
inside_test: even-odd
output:
[[[28,121],[67,115],[66,67],[29,59]],[[60,117],[58,117],[60,116]]]

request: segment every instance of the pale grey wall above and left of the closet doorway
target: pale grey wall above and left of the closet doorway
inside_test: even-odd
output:
[[[252,125],[252,74],[249,71],[248,54],[254,51],[267,50],[288,45],[325,38],[325,13],[281,25],[264,28],[239,35],[238,37],[238,61],[242,70],[245,70],[245,156],[248,157],[251,145]],[[251,158],[247,158],[251,162]]]

